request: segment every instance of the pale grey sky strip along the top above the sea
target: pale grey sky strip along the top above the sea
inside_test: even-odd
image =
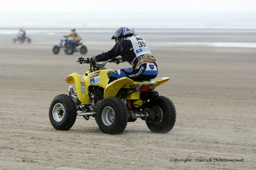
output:
[[[256,11],[255,0],[8,0],[0,11]]]

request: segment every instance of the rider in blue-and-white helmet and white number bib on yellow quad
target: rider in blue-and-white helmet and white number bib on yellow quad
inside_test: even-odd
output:
[[[111,50],[91,58],[77,57],[77,62],[79,64],[100,62],[121,55],[123,60],[132,65],[132,68],[113,71],[113,73],[109,74],[108,83],[122,77],[131,78],[134,81],[156,78],[158,72],[156,59],[150,52],[143,37],[133,36],[131,29],[128,27],[120,27],[115,31],[111,39],[116,41]]]

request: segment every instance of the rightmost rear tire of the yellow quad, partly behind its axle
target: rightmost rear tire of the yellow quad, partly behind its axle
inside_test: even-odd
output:
[[[157,133],[170,132],[176,121],[176,110],[172,101],[167,97],[159,96],[157,99],[150,100],[148,106],[156,112],[160,111],[157,118],[146,121],[148,129]]]

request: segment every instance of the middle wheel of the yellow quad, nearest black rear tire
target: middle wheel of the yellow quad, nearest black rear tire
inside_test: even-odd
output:
[[[111,117],[111,113],[113,113],[113,117]],[[106,118],[106,115],[109,115],[109,117]],[[113,122],[108,122],[106,119]],[[120,134],[124,131],[128,122],[127,108],[118,97],[107,97],[100,103],[95,120],[102,132]]]

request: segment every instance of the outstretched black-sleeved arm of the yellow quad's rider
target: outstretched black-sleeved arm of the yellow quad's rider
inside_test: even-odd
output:
[[[117,57],[118,55],[122,55],[123,49],[124,49],[124,43],[120,41],[116,43],[115,46],[108,52],[103,52],[103,53],[100,53],[99,55],[95,55],[90,60],[94,62],[109,60],[114,57]]]

